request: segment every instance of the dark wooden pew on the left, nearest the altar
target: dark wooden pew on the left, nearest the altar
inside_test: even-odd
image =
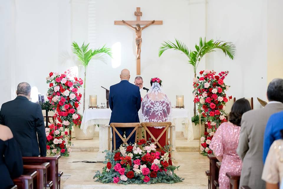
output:
[[[47,180],[50,180],[53,183],[50,187],[51,189],[59,189],[60,177],[63,175],[62,171],[58,171],[58,159],[60,157],[60,155],[55,155],[53,157],[23,157],[23,162],[28,165],[40,165],[49,162],[50,167],[47,168]]]

